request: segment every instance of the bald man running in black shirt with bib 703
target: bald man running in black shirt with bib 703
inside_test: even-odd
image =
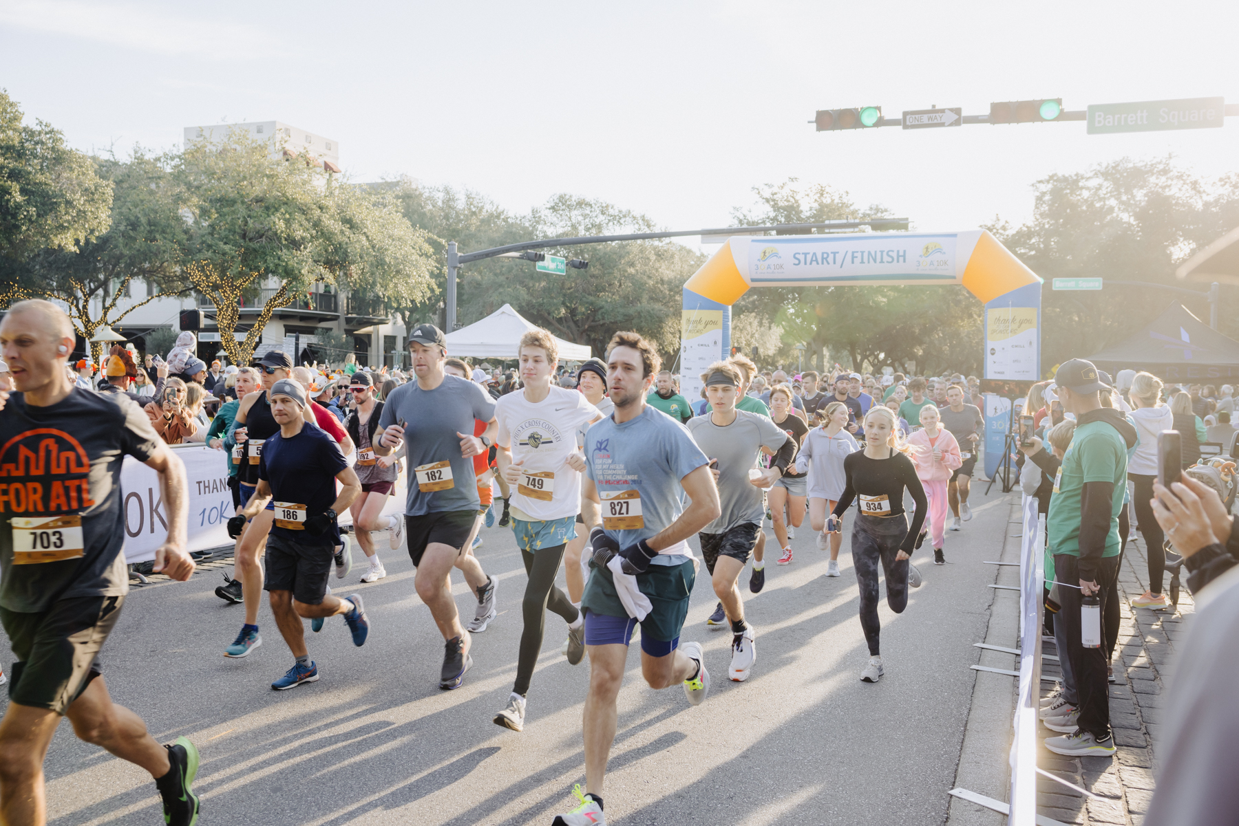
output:
[[[193,573],[185,466],[136,404],[74,386],[66,363],[76,341],[48,301],[20,301],[0,322],[16,388],[0,390],[0,620],[16,658],[0,719],[0,822],[46,822],[43,760],[68,717],[81,739],[155,778],[165,822],[191,826],[197,748],[186,737],[160,746],[138,715],[112,702],[99,663],[129,592],[123,459],[159,474],[167,539],[155,571],[181,582]],[[46,466],[25,458],[43,456]]]

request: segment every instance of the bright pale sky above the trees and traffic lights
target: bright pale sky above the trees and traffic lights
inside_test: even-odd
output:
[[[1239,4],[1181,0],[234,2],[0,0],[0,88],[85,151],[281,120],[339,142],[356,181],[410,176],[514,212],[601,198],[664,229],[732,224],[789,177],[922,230],[1033,212],[1035,181],[1173,154],[1237,168],[1223,129],[1084,123],[817,133],[815,110],[990,102],[1239,103]]]

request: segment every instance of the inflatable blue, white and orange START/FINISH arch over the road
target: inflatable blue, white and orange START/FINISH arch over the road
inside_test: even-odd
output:
[[[750,287],[896,284],[964,286],[985,305],[985,378],[1041,376],[1041,279],[984,229],[735,235],[684,284],[681,393],[689,401],[699,399],[700,374],[730,353],[731,305]],[[992,456],[997,463],[1007,424],[1000,414],[1010,407],[1002,401],[987,396],[984,409],[990,474],[989,459]],[[990,450],[999,426],[997,450]]]

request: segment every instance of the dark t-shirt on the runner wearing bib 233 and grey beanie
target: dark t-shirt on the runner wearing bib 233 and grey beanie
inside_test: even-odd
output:
[[[271,533],[297,545],[338,545],[338,525],[332,523],[331,530],[315,536],[305,530],[305,520],[336,502],[336,474],[347,467],[339,445],[317,425],[306,422],[301,432],[289,438],[281,433],[269,436],[258,462],[258,478],[271,485],[268,504],[268,509],[275,510]]]

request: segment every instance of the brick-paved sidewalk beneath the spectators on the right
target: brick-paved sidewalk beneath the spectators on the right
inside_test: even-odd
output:
[[[1175,645],[1186,634],[1184,617],[1194,612],[1186,585],[1180,592],[1178,609],[1173,613],[1131,608],[1131,599],[1144,593],[1147,583],[1145,541],[1132,528],[1119,571],[1123,624],[1114,649],[1116,682],[1110,686],[1110,724],[1119,752],[1113,758],[1066,758],[1040,748],[1040,768],[1101,798],[1087,799],[1074,789],[1038,776],[1040,815],[1064,824],[1140,826],[1144,822],[1154,793],[1157,768],[1154,743],[1161,737],[1163,692],[1168,685]],[[1167,593],[1168,585],[1167,575]],[[1053,643],[1042,645],[1044,654],[1057,654]],[[1044,660],[1042,674],[1057,676],[1058,664]],[[1042,682],[1042,696],[1052,690],[1052,682]],[[1044,726],[1038,728],[1043,738],[1057,736]]]

